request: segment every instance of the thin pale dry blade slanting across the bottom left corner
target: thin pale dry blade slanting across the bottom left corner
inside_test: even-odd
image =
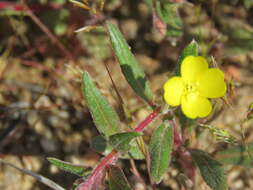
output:
[[[65,190],[63,187],[61,187],[60,185],[58,185],[54,181],[52,181],[52,180],[50,180],[50,179],[48,179],[48,178],[46,178],[46,177],[44,177],[44,176],[42,176],[40,174],[37,174],[37,173],[32,172],[32,171],[27,170],[27,169],[19,168],[19,167],[15,166],[14,164],[12,164],[10,162],[7,162],[5,160],[2,160],[2,159],[0,159],[0,163],[8,165],[8,166],[10,166],[12,168],[15,168],[16,170],[19,170],[22,173],[25,173],[27,175],[30,175],[30,176],[34,177],[36,180],[38,180],[39,182],[45,184],[46,186],[50,187],[51,189],[54,189],[54,190]]]

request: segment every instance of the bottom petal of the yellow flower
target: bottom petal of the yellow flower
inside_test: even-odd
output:
[[[189,93],[183,96],[181,107],[183,113],[191,119],[206,117],[212,111],[211,102],[197,93]]]

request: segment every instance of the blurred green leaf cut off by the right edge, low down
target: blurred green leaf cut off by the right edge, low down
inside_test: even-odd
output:
[[[215,155],[215,158],[225,165],[240,165],[249,167],[252,166],[253,143],[238,145],[220,151]]]

